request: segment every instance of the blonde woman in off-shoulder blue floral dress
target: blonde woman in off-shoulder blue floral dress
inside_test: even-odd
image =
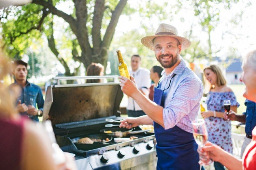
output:
[[[216,65],[210,65],[204,69],[205,78],[210,83],[210,91],[205,103],[206,112],[201,112],[205,119],[208,131],[208,140],[229,153],[233,153],[231,140],[231,123],[224,120],[224,100],[230,100],[231,110],[236,112],[239,103],[230,87],[226,85],[226,80],[221,69]],[[224,166],[219,162],[214,162],[216,170],[224,170]]]

